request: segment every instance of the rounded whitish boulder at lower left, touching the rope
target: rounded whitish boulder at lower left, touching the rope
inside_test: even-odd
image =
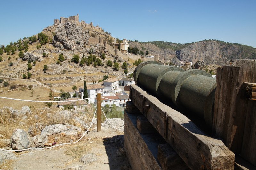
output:
[[[21,129],[16,129],[11,136],[11,148],[14,150],[27,149],[33,145],[32,138]]]

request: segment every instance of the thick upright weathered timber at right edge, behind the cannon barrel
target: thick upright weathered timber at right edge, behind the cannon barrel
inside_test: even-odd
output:
[[[256,102],[243,82],[256,83],[256,60],[232,60],[217,69],[213,133],[235,154],[256,165]]]

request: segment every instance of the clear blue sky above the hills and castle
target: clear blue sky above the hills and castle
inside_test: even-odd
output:
[[[1,1],[0,44],[35,35],[79,14],[114,37],[190,43],[217,39],[256,47],[255,0]]]

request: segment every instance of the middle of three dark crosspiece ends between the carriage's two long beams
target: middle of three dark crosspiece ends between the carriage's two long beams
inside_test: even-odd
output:
[[[151,125],[151,123],[141,115],[137,117],[137,128],[140,133],[157,133],[156,129]]]

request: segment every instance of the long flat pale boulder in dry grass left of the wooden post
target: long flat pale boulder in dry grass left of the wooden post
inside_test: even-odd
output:
[[[64,132],[66,135],[72,135],[76,136],[78,135],[78,132],[81,132],[81,129],[73,126],[73,125],[62,125],[62,124],[55,124],[55,125],[49,125],[46,126],[42,132],[41,135],[53,135]]]

